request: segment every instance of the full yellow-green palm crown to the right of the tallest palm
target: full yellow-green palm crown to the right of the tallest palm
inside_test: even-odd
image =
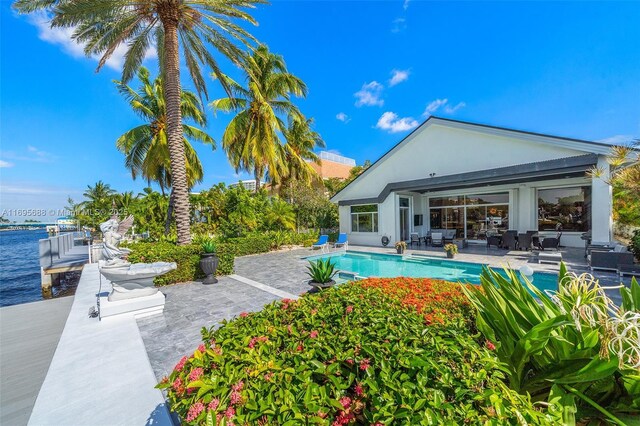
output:
[[[222,147],[236,171],[253,173],[257,192],[265,173],[276,183],[282,177],[280,135],[287,129],[283,118],[304,120],[291,95],[306,96],[307,86],[287,71],[282,56],[269,52],[266,46],[247,57],[243,69],[247,88],[227,76],[220,77],[231,89],[231,96],[214,100],[211,107],[237,112],[225,129]]]

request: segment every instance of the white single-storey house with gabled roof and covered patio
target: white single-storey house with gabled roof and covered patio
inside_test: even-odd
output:
[[[352,244],[393,244],[412,232],[455,232],[469,244],[507,229],[556,236],[580,247],[612,240],[610,146],[430,117],[338,192],[340,232]],[[606,178],[606,176],[603,176]]]

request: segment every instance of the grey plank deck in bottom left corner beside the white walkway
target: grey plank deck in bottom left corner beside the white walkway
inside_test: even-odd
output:
[[[73,296],[0,308],[0,424],[26,425]]]

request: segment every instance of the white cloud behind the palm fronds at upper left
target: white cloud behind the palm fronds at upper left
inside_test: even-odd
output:
[[[44,12],[32,13],[28,16],[28,20],[32,25],[38,28],[38,37],[40,38],[40,40],[62,47],[62,50],[65,53],[74,58],[86,57],[86,55],[84,54],[85,44],[76,43],[71,38],[75,30],[74,28],[51,28],[51,19]],[[113,52],[111,57],[109,57],[105,65],[116,71],[120,71],[122,69],[122,65],[124,64],[124,55],[126,52],[126,43],[120,44],[120,46],[118,46],[118,48]],[[92,55],[91,57],[96,61],[100,60],[100,57],[97,55]],[[145,54],[145,59],[155,57],[157,57],[156,49],[154,47],[149,48]]]

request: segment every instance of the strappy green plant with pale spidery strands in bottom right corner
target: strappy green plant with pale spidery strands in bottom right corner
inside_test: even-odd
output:
[[[621,307],[588,274],[561,264],[549,295],[525,277],[484,269],[481,291],[462,287],[477,327],[507,366],[509,386],[561,406],[564,424],[640,414],[640,287]],[[633,309],[631,309],[633,308]]]

